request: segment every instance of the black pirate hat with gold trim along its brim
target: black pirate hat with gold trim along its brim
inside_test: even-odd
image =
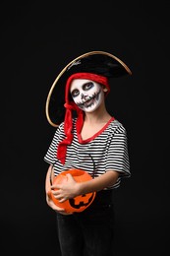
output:
[[[107,79],[132,75],[131,70],[122,60],[105,51],[90,51],[75,58],[56,77],[46,99],[46,117],[54,127],[58,127],[64,120],[66,83],[73,74],[77,73],[90,73]]]

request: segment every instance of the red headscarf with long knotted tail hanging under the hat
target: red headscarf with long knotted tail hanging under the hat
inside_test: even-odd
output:
[[[64,132],[66,135],[66,139],[60,142],[58,145],[58,151],[57,151],[57,158],[60,160],[63,164],[65,163],[66,159],[66,153],[67,153],[67,146],[72,143],[73,140],[73,134],[72,134],[72,110],[76,110],[78,114],[78,120],[77,120],[77,131],[80,133],[83,123],[84,123],[84,111],[80,109],[77,104],[74,101],[69,101],[69,94],[70,94],[70,86],[74,79],[87,79],[94,81],[98,84],[101,84],[107,88],[107,93],[110,92],[110,87],[108,84],[108,79],[106,77],[91,74],[91,73],[76,73],[69,77],[66,83],[66,90],[65,90],[65,101],[66,103],[64,106],[66,107],[66,113],[65,113],[65,120],[64,120]]]

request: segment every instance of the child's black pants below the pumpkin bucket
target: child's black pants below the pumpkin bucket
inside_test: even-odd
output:
[[[98,192],[82,213],[57,214],[57,227],[62,256],[113,256],[112,192]]]

